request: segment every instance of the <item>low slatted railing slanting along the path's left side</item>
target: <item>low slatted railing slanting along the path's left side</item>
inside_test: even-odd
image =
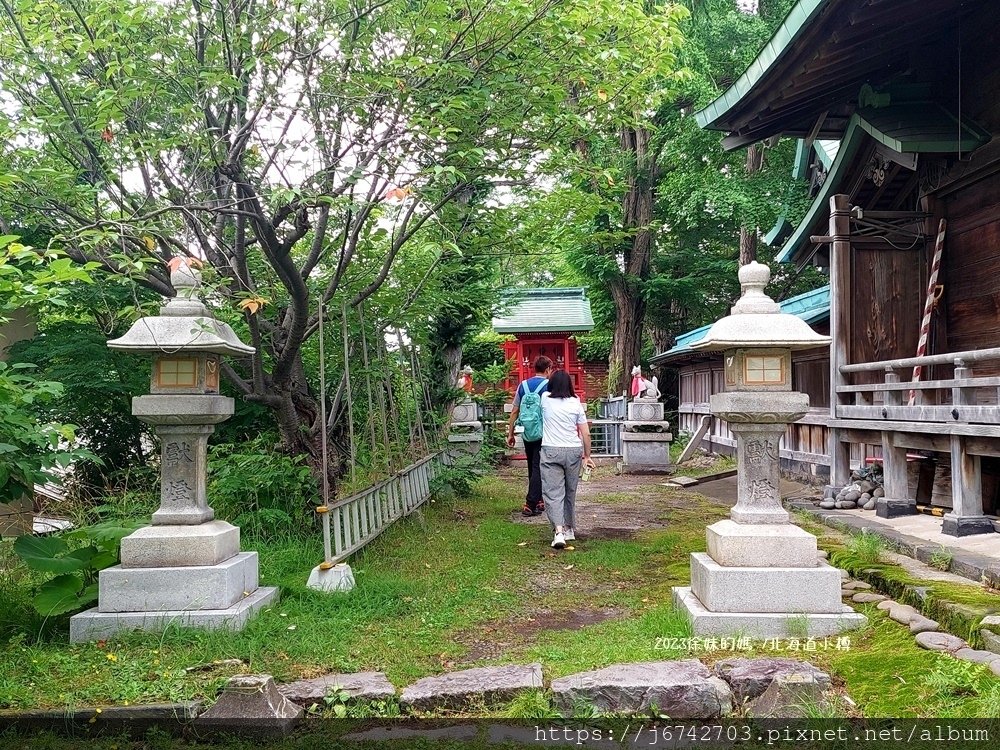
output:
[[[431,496],[431,481],[446,463],[443,453],[410,464],[388,479],[330,503],[331,562],[341,562]]]

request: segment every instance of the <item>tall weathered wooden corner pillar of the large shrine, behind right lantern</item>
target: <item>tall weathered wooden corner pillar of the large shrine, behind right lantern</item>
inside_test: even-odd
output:
[[[841,365],[850,361],[851,335],[851,205],[848,196],[830,198],[830,418],[837,419],[841,403],[837,386],[846,385]],[[829,430],[830,484],[843,487],[851,481],[851,446],[841,430]]]

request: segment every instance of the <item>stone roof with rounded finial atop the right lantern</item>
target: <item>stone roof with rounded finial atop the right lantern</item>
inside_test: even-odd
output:
[[[771,269],[753,261],[739,272],[743,294],[730,314],[720,318],[701,341],[697,351],[741,348],[813,349],[830,344],[829,336],[816,333],[801,318],[781,312],[780,305],[764,294]]]

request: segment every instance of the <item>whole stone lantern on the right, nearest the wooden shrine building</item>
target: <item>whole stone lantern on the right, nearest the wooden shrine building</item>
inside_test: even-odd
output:
[[[789,521],[779,491],[779,444],[809,410],[792,390],[792,350],[827,346],[801,319],[764,294],[770,270],[739,272],[742,296],[692,348],[721,351],[725,391],[711,410],[736,436],[737,502],[706,530],[708,553],[691,555],[691,587],[674,599],[695,635],[825,636],[859,627],[864,615],[841,602],[840,571],[817,554],[816,537]]]

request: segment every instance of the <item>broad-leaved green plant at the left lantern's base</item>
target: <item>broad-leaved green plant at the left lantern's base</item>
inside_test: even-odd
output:
[[[123,537],[144,524],[118,521],[85,526],[60,536],[21,536],[14,553],[31,570],[54,574],[32,605],[44,617],[77,612],[97,601],[97,574],[118,564]]]

